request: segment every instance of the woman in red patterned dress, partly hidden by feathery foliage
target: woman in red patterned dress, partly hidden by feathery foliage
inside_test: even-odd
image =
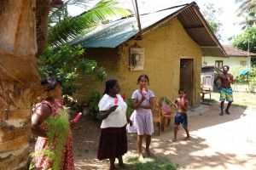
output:
[[[41,85],[44,87],[47,98],[42,102],[35,105],[32,114],[32,133],[38,136],[37,143],[35,145],[35,151],[51,149],[54,150],[52,146],[47,144],[47,129],[44,121],[49,116],[56,116],[59,109],[63,109],[59,97],[62,95],[61,82],[55,77],[48,77],[41,81]],[[34,159],[35,165],[43,170],[49,169],[53,166],[53,162],[49,160],[47,156],[40,155]],[[74,170],[73,161],[73,139],[72,133],[69,129],[67,136],[67,143],[63,148],[61,165],[58,169],[61,170]]]

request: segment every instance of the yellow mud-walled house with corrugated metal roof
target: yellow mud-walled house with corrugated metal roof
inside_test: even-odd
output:
[[[121,94],[130,97],[137,77],[147,74],[156,97],[177,98],[178,88],[187,89],[189,105],[200,104],[201,58],[225,56],[224,48],[207,25],[196,3],[109,22],[79,37],[73,44],[86,48],[86,58],[104,66],[108,78],[119,80]],[[84,77],[79,100],[104,85]]]

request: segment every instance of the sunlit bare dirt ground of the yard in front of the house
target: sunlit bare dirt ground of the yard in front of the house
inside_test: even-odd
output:
[[[173,125],[160,136],[155,127],[151,144],[155,156],[165,156],[186,170],[256,169],[256,113],[232,106],[230,112],[218,116],[218,103],[189,111],[189,141],[183,141],[182,127],[176,143],[172,143]],[[99,133],[99,123],[82,117],[73,131],[76,169],[108,169],[108,161],[96,160]],[[128,139],[126,156],[136,152],[136,136],[129,134]]]

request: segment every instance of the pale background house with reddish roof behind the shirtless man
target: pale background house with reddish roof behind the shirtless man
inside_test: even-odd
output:
[[[238,66],[251,66],[251,57],[256,57],[256,54],[243,51],[238,48],[233,48],[229,45],[223,45],[227,58],[216,56],[204,56],[202,59],[203,65],[216,65],[218,68],[222,68],[223,65],[229,65],[230,67]]]

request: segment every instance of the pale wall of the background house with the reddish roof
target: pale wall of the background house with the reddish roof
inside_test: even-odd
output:
[[[241,61],[246,61],[247,66],[251,66],[251,56],[248,57],[230,57],[230,58],[224,58],[224,57],[203,57],[202,58],[202,64],[206,65],[215,65],[216,60],[223,60],[223,65],[229,65],[230,67],[237,67],[242,66]]]

